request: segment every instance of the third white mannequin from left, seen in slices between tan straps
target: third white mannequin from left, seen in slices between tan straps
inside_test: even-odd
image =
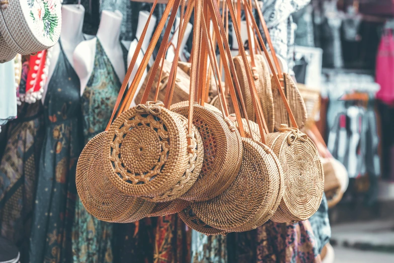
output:
[[[145,27],[145,24],[147,23],[148,17],[149,17],[149,13],[148,12],[146,12],[146,11],[139,12],[137,32],[136,32],[137,39],[139,39],[141,37],[143,28]],[[156,18],[154,16],[152,16],[150,18],[149,26],[148,26],[148,28],[146,30],[146,34],[145,34],[145,37],[144,37],[143,42],[142,42],[142,46],[141,46],[142,50],[139,51],[137,60],[136,60],[135,65],[133,67],[133,71],[131,72],[129,85],[131,85],[131,83],[132,83],[132,81],[133,81],[133,79],[135,77],[135,74],[137,73],[138,67],[139,67],[139,65],[142,62],[144,53],[148,49],[148,45],[149,45],[149,42],[150,42],[150,38],[151,38],[151,36],[153,34],[153,30],[154,30],[155,24],[156,24]],[[131,59],[132,59],[133,54],[134,54],[134,51],[135,51],[135,48],[137,47],[137,44],[138,44],[138,40],[137,39],[134,39],[133,41],[131,41],[129,52],[128,52],[128,55],[127,55],[127,65],[130,64]],[[142,75],[142,79],[141,79],[140,83],[138,84],[138,88],[137,88],[136,94],[138,94],[138,91],[141,89],[141,86],[143,84],[143,81],[144,81],[146,75],[147,75],[147,71],[145,70],[143,75]],[[133,107],[133,106],[135,106],[134,99],[133,99],[133,101],[130,104],[130,107]]]

